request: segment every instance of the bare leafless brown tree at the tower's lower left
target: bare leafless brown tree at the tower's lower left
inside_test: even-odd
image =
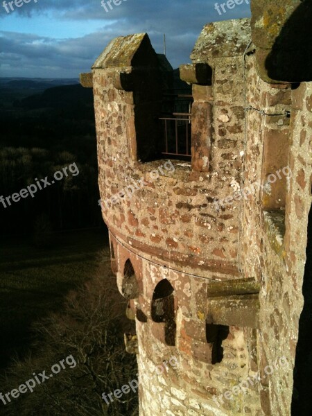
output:
[[[101,395],[136,379],[135,356],[125,352],[123,332],[133,331],[125,318],[126,304],[110,275],[110,263],[101,262],[96,276],[78,291],[69,293],[63,313],[54,313],[36,324],[37,341],[25,361],[16,361],[1,380],[9,392],[33,373],[46,370],[72,355],[76,366],[66,366],[34,391],[2,406],[1,415],[97,416],[137,415],[137,395],[114,398],[107,406]],[[39,335],[41,337],[39,337]]]

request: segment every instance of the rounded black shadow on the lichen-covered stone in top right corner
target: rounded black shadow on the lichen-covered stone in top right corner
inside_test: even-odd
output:
[[[304,0],[286,21],[266,58],[273,80],[312,81],[312,1]]]

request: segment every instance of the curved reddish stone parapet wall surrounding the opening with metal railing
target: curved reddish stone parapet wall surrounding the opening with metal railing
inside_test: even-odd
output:
[[[144,64],[140,62],[141,67]],[[125,71],[135,69],[95,68],[93,75],[99,185],[105,222],[114,235],[159,257],[168,266],[179,269],[183,265],[184,271],[203,277],[239,277],[239,211],[229,208],[219,212],[213,202],[230,196],[233,187],[241,182],[244,138],[241,56],[225,58],[222,67],[216,69],[214,101],[208,104],[213,105],[214,115],[211,114],[209,122],[211,128],[205,130],[207,138],[211,137],[209,172],[193,171],[187,162],[173,161],[170,169],[164,168],[166,160],[139,162],[137,119],[145,123],[148,143],[153,125],[150,117],[141,114],[141,107],[159,97],[148,90],[137,103],[136,92],[116,89],[115,80]],[[194,85],[195,109],[201,102],[211,100],[210,94],[209,87]],[[198,109],[198,114],[194,110],[193,119],[194,124],[198,120],[198,134],[202,135],[201,121],[207,113]],[[223,122],[225,119],[227,123]],[[154,179],[156,175],[152,172],[160,166],[163,173],[158,171],[159,177]],[[115,200],[108,201],[139,180],[146,184],[139,185],[130,200],[125,197],[117,204],[113,203]]]

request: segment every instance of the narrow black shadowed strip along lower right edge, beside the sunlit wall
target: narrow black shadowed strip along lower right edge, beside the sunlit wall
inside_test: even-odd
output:
[[[299,338],[293,372],[292,416],[312,415],[312,208],[309,214],[308,245],[306,246],[306,266],[304,268],[302,293],[304,295],[304,308],[300,315]]]

